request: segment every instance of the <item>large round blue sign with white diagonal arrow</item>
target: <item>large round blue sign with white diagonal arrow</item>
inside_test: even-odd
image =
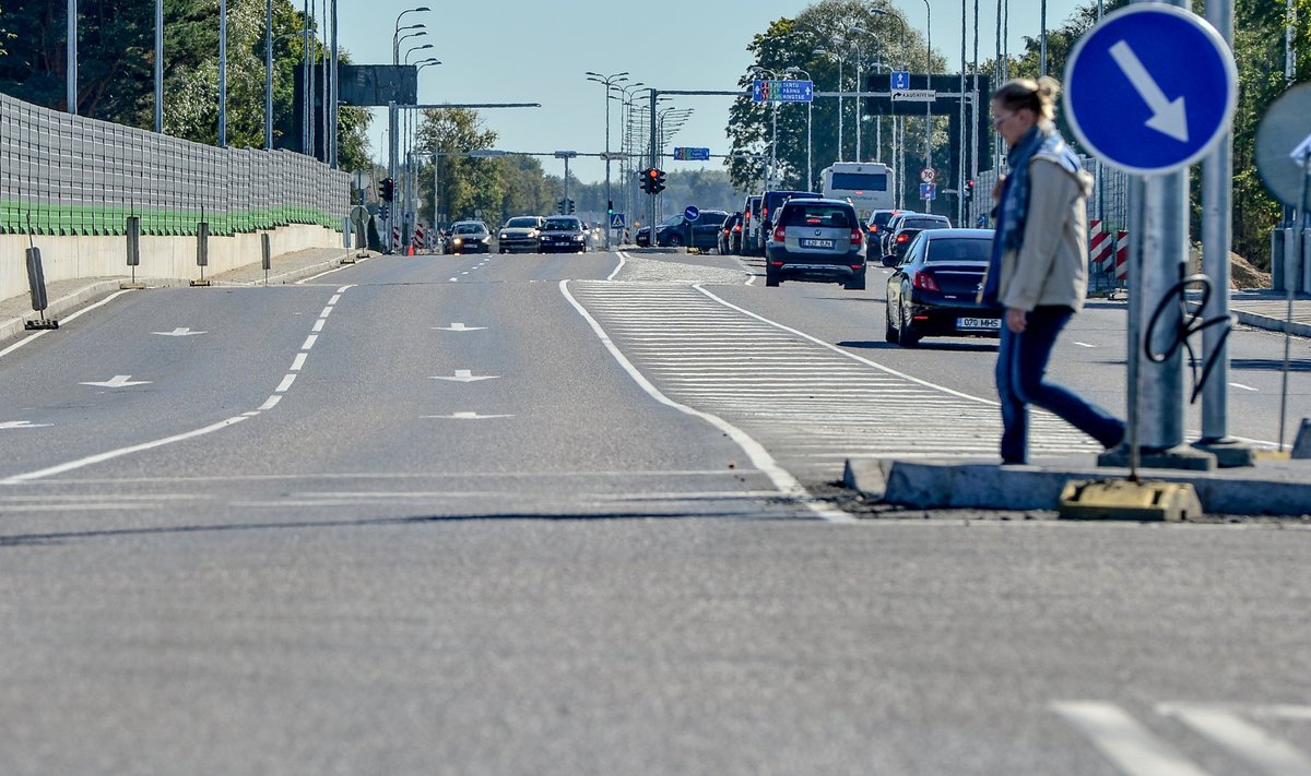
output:
[[[1224,38],[1173,5],[1106,14],[1066,66],[1065,110],[1075,136],[1130,173],[1194,164],[1228,131],[1236,104],[1238,68]]]

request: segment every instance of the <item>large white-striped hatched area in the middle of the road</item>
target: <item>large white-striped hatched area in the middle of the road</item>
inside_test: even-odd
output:
[[[742,427],[806,481],[840,477],[846,457],[996,457],[994,401],[897,372],[700,287],[570,288],[662,392]],[[1042,412],[1032,414],[1029,447],[1034,457],[1101,450]]]

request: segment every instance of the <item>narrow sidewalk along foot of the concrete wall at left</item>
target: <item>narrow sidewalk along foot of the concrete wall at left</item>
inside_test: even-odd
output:
[[[340,266],[342,258],[354,256],[364,257],[375,254],[367,250],[347,250],[345,248],[308,248],[295,253],[284,253],[274,257],[273,269],[269,270],[269,284],[292,283],[302,278],[308,278]],[[260,262],[248,263],[220,275],[207,277],[206,279],[214,286],[262,286],[265,281],[264,267]],[[130,281],[131,275],[115,275],[110,278],[76,278],[46,283],[46,317],[58,320],[68,312],[119,291],[121,284]],[[136,281],[144,283],[147,288],[166,288],[190,283],[185,278],[139,277]],[[31,298],[28,294],[0,299],[0,342],[21,334],[26,321],[39,317],[31,309]]]

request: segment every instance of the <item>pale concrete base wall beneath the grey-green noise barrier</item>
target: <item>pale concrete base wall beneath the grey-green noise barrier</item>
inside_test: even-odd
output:
[[[260,262],[264,253],[262,232],[232,236],[210,236],[208,266],[205,277],[212,277],[240,266]],[[342,235],[324,227],[292,224],[270,229],[273,256],[292,253],[305,248],[340,248]],[[127,266],[126,237],[58,237],[37,235],[30,244],[41,249],[41,263],[47,283],[79,278],[113,278],[131,275]],[[0,235],[0,299],[24,296],[29,292],[26,249],[28,235]],[[142,263],[136,277],[142,279],[194,281],[201,277],[195,263],[194,236],[148,236],[140,240]]]

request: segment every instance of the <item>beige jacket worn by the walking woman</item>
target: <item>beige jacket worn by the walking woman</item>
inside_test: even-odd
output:
[[[1003,307],[1032,311],[1059,304],[1083,308],[1088,292],[1087,199],[1092,176],[1072,173],[1055,160],[1029,160],[1029,212],[1020,250],[1002,256],[998,299]]]

